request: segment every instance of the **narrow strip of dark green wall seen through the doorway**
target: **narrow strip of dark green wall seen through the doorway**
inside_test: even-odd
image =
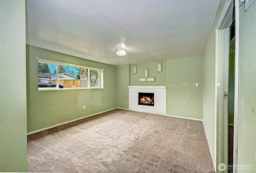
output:
[[[228,123],[234,124],[235,53],[229,54]]]

